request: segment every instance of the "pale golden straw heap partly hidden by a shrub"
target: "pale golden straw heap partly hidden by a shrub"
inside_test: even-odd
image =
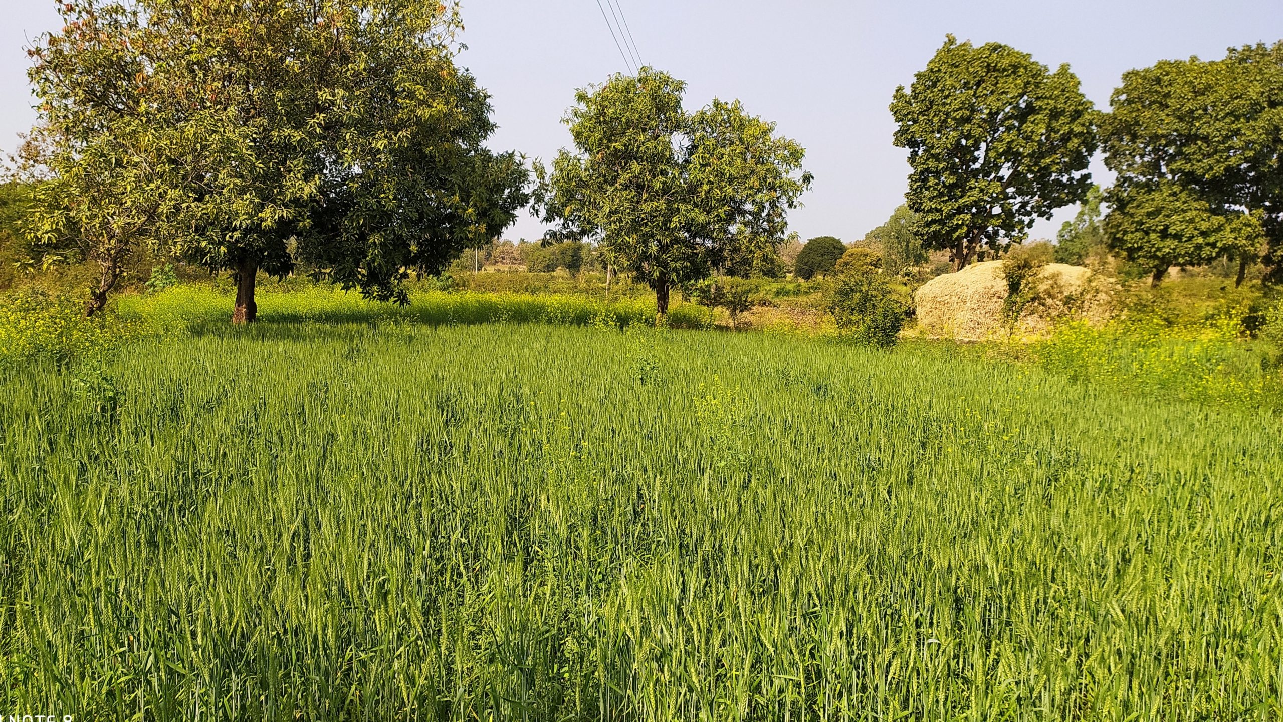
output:
[[[919,328],[928,335],[985,340],[1039,334],[1066,317],[1098,320],[1109,315],[1109,289],[1091,270],[1066,263],[1043,267],[1034,302],[1012,325],[1005,313],[1007,281],[1002,261],[973,263],[926,283],[915,295]]]

